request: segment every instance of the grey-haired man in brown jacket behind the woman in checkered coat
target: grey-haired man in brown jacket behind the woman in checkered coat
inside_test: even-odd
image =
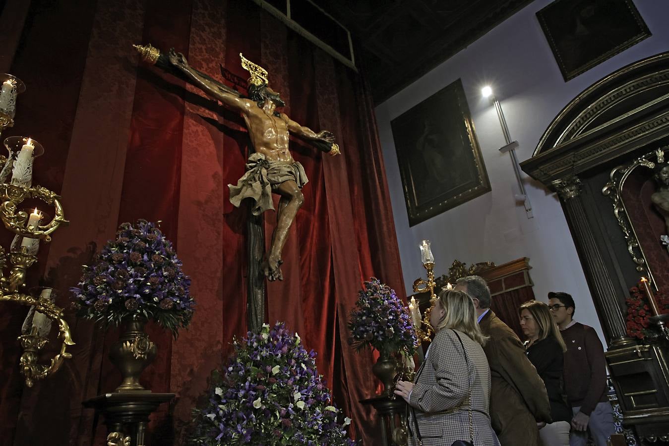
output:
[[[539,428],[551,423],[543,380],[527,359],[518,336],[490,310],[490,289],[478,275],[458,279],[456,290],[474,301],[481,331],[490,340],[483,350],[490,365],[490,416],[502,446],[538,446]]]

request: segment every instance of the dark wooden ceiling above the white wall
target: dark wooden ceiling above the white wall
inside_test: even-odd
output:
[[[532,0],[312,0],[351,31],[377,104]]]

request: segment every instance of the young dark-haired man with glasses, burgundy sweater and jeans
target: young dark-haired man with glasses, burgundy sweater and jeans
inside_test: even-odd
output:
[[[571,405],[570,446],[585,446],[588,433],[596,446],[605,446],[615,433],[613,411],[606,391],[604,349],[594,328],[573,320],[576,305],[571,295],[549,293],[549,308],[563,340],[565,352],[565,392]]]

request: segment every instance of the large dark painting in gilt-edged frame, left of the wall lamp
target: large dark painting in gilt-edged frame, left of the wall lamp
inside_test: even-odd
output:
[[[460,79],[391,127],[410,226],[490,191]]]

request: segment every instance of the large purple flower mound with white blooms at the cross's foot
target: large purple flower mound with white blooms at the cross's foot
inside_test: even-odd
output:
[[[209,403],[193,411],[197,445],[355,445],[296,333],[277,322],[234,340],[227,367],[212,374]]]

